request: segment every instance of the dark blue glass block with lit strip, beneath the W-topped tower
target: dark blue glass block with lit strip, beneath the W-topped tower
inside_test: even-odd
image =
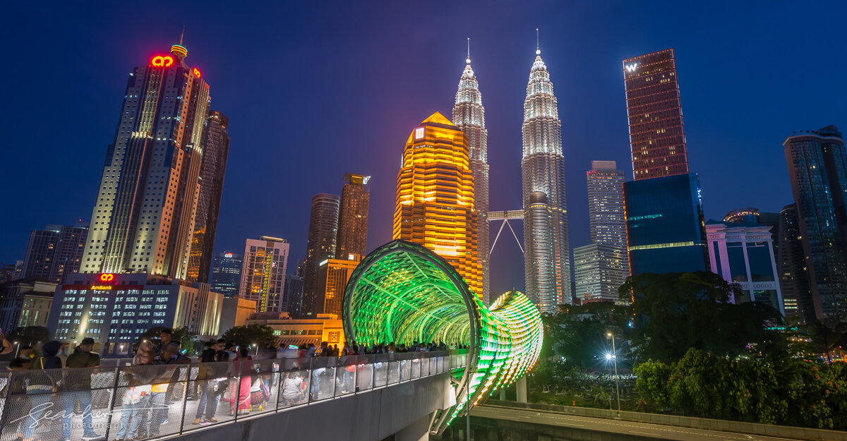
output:
[[[631,275],[708,271],[709,251],[696,174],[623,185]]]

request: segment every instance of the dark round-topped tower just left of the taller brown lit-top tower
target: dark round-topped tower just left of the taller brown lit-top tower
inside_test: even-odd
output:
[[[303,300],[301,314],[314,316],[324,306],[319,302],[318,268],[320,262],[335,257],[338,239],[338,214],[341,198],[327,193],[312,197],[309,214],[309,234],[306,244],[306,263],[303,267]]]

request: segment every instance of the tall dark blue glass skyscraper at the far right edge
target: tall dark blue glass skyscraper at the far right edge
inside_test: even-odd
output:
[[[847,152],[834,125],[783,142],[814,317],[847,321]]]

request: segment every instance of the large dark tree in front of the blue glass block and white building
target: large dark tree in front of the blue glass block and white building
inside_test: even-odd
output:
[[[714,273],[644,273],[618,290],[633,300],[632,345],[639,360],[672,362],[690,349],[721,356],[768,356],[784,351],[785,338],[774,328],[783,319],[772,307],[757,303],[735,305],[741,295]]]

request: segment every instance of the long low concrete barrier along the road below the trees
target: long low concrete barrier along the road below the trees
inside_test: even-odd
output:
[[[760,424],[757,422],[736,422],[729,420],[712,420],[693,416],[663,415],[657,413],[608,411],[591,407],[575,407],[572,405],[548,405],[543,403],[516,403],[514,401],[486,400],[483,405],[495,407],[512,407],[533,411],[548,411],[568,415],[594,416],[631,422],[650,422],[666,426],[691,427],[724,432],[745,433],[748,435],[765,435],[770,437],[811,439],[816,441],[847,441],[847,432],[815,429],[809,427],[777,426],[775,424]]]

